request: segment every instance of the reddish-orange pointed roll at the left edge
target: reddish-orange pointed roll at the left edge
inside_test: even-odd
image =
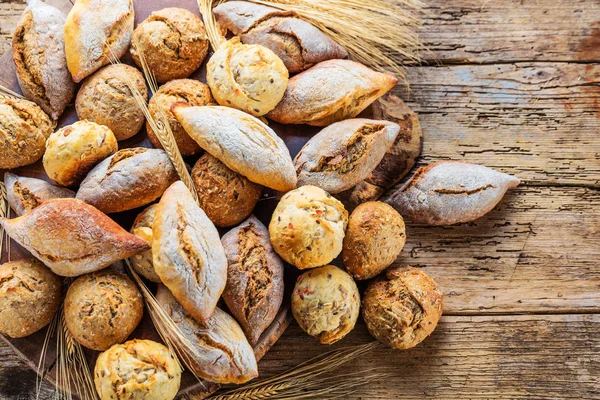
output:
[[[52,199],[22,217],[0,219],[6,233],[55,274],[78,276],[150,246],[98,209],[77,199]]]

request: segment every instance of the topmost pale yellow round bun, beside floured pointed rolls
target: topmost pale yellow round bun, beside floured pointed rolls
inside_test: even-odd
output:
[[[224,42],[206,65],[206,82],[222,106],[260,117],[275,108],[288,85],[288,70],[264,46],[238,37]]]

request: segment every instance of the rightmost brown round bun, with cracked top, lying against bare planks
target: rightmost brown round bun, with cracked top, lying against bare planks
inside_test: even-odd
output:
[[[409,349],[437,326],[442,315],[442,292],[421,270],[389,268],[367,287],[362,315],[377,340],[395,349]]]

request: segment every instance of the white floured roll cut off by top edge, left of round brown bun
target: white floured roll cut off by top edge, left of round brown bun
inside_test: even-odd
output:
[[[133,33],[132,0],[77,0],[64,26],[67,66],[75,82],[121,58]]]

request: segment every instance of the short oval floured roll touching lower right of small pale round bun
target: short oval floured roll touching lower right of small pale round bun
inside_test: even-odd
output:
[[[145,206],[177,180],[164,150],[133,147],[98,164],[81,182],[77,198],[110,214]]]

